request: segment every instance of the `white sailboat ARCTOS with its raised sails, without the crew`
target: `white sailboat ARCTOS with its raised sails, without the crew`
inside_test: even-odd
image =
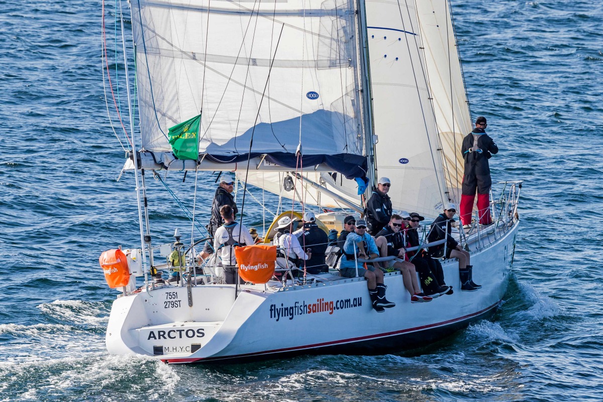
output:
[[[384,313],[371,307],[364,278],[341,277],[333,266],[299,283],[224,284],[215,260],[194,260],[203,228],[189,247],[178,233],[155,245],[144,202],[145,171],[230,171],[242,186],[301,206],[263,206],[276,218],[330,210],[317,215],[326,229],[363,212],[377,177],[390,178],[394,210],[434,218],[444,204],[458,205],[460,148],[472,121],[448,1],[129,4],[141,143],[133,140],[124,169],[136,180],[140,243],[113,250],[124,278],[113,283],[121,293],[107,326],[109,353],[168,363],[381,353],[492,315],[511,273],[521,181],[493,187],[494,225],[452,231],[482,289],[461,292],[458,262],[442,260],[455,292],[411,304],[402,275],[390,272],[384,281],[396,307]],[[178,157],[170,128],[195,116],[193,157]],[[264,227],[265,243],[273,226]],[[174,252],[177,280],[154,282],[150,272],[169,268],[159,262]],[[107,266],[106,275],[116,269]]]

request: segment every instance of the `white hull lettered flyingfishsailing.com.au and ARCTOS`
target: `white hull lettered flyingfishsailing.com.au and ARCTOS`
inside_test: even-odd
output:
[[[266,291],[263,285],[244,285],[236,300],[233,285],[193,286],[192,307],[186,287],[162,286],[113,303],[107,349],[169,363],[200,363],[303,351],[374,353],[429,344],[499,305],[518,225],[514,222],[500,239],[472,253],[473,280],[483,286],[479,291],[460,291],[456,260],[443,263],[454,294],[430,303],[411,304],[402,276],[385,274],[387,297],[396,307],[384,313],[371,307],[364,278]]]

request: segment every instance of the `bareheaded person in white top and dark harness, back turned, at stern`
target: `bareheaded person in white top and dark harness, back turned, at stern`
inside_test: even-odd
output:
[[[234,284],[236,282],[235,246],[250,246],[254,241],[245,225],[235,222],[234,210],[231,206],[221,206],[220,215],[224,219],[224,224],[217,228],[213,235],[213,249],[218,251],[218,256],[222,259],[224,281],[227,284]],[[240,278],[239,283],[242,283]]]

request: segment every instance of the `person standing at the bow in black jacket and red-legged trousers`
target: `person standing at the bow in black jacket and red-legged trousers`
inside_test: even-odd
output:
[[[498,152],[498,146],[485,132],[487,127],[486,118],[479,116],[475,120],[475,129],[463,139],[463,158],[465,160],[465,172],[463,176],[463,194],[461,195],[460,213],[463,227],[471,225],[471,213],[475,190],[478,191],[478,216],[479,224],[490,225],[490,165],[488,159],[492,154]]]

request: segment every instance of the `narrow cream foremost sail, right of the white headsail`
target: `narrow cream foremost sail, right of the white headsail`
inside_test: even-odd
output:
[[[447,0],[419,1],[417,16],[423,37],[429,89],[444,154],[444,178],[458,203],[463,181],[463,137],[472,130],[463,72]]]

